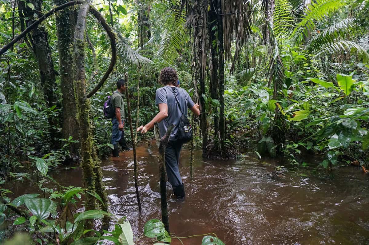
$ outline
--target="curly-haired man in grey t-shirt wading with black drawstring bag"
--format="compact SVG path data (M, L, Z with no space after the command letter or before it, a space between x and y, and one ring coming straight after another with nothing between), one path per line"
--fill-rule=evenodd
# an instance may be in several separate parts
M200 115L199 104L193 103L186 90L177 87L178 75L175 69L166 67L161 70L160 82L163 87L156 90L155 104L159 107L159 113L145 126L137 128L137 132L145 134L159 123L160 136L163 137L170 124L179 125L183 114L187 115L188 108L197 116ZM176 97L179 103L176 101ZM182 109L182 110L181 110ZM179 173L179 156L183 143L176 139L178 128L175 127L169 138L165 151L165 166L169 182L173 192L178 198L184 198L184 186Z

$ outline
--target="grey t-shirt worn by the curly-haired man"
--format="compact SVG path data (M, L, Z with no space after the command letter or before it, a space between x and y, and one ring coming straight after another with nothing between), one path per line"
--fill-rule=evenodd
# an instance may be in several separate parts
M180 118L182 117L182 112L172 91L177 96L177 99L180 103L180 108L182 109L184 115L187 115L188 108L192 108L194 106L190 95L184 89L170 86L164 86L160 89L157 89L155 104L158 105L164 103L168 105L168 117L159 123L159 131L161 137L163 137L166 130L168 130L168 126L170 124L174 124L175 126L177 126L179 124ZM170 135L169 140L175 140L175 135L177 131L178 128L175 127L172 134Z

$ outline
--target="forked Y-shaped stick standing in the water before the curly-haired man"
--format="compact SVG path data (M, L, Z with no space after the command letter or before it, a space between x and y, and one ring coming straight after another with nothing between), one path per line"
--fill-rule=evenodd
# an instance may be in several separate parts
M159 124L154 124L154 134L156 139L156 145L159 148L158 163L160 171L160 201L162 220L165 226L165 230L169 232L169 215L168 215L168 204L166 200L166 178L165 178L165 149L169 142L170 134L172 134L174 124L170 124L165 135L161 138L159 135Z

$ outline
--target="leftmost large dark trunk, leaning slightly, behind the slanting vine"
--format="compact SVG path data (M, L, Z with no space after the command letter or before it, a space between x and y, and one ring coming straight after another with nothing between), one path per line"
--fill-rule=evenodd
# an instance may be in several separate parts
M42 16L42 0L30 0L30 3L34 5L34 10L22 3L23 10L26 11L25 16L27 17L27 26L30 26ZM58 103L58 97L56 96L56 93L54 93L54 89L56 89L55 70L51 56L51 49L48 42L48 33L46 32L45 27L42 25L35 27L31 33L31 42L38 61L46 106L56 106ZM52 115L49 115L48 121L51 127L49 130L51 133L51 141L56 144L55 137L58 137L58 120Z

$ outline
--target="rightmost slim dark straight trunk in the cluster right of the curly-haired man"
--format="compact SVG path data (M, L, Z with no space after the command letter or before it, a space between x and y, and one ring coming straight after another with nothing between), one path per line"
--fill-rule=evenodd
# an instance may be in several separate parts
M223 13L222 1L217 2L218 11L218 50L219 50L219 131L222 154L224 152L225 140L225 118L224 118L224 40L223 40Z

